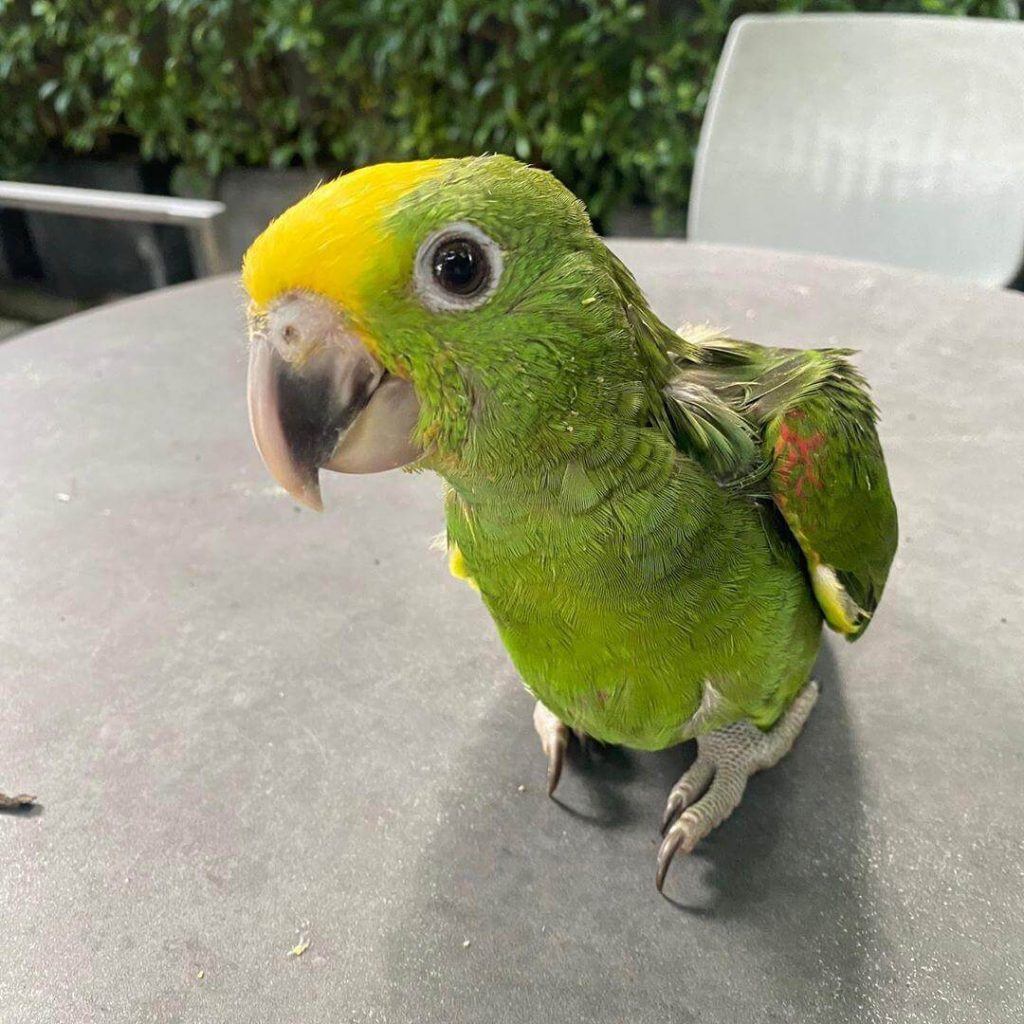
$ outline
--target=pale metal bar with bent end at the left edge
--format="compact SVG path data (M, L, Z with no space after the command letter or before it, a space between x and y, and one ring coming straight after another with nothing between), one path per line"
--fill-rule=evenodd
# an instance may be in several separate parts
M215 200L0 181L0 206L62 213L73 217L95 217L99 220L178 224L195 234L202 261L202 266L198 268L201 276L220 273L226 269L213 226L214 220L224 212L225 207Z

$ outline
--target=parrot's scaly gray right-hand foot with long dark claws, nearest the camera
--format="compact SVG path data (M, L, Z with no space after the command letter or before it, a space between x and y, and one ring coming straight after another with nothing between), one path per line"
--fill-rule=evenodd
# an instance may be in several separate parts
M751 775L790 753L817 698L818 684L811 680L768 732L750 722L733 722L697 737L696 760L672 787L662 819L662 831L669 830L657 851L658 892L672 858L680 851L689 853L739 806Z

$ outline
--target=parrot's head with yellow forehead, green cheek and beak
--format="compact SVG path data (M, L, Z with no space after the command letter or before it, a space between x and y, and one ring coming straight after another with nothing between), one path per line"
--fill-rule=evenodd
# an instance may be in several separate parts
M549 458L595 368L636 374L620 279L583 204L509 157L319 186L245 258L264 460L315 505L319 468Z

